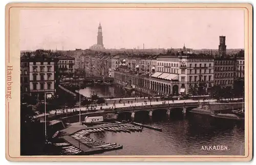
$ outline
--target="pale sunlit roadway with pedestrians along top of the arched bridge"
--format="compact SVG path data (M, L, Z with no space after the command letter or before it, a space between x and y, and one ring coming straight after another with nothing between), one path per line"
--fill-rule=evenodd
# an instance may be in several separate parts
M239 100L239 99L234 99L234 101L236 100ZM147 102L146 105L161 105L163 104L164 101L154 101L154 102ZM215 104L218 104L217 100L216 99L209 99L209 100L174 100L174 101L165 101L165 104L173 104L173 103L196 103L196 102L210 102L210 103L215 103ZM219 103L219 104L223 104L223 103ZM98 112L104 112L104 109L114 109L114 108L123 108L123 107L136 107L136 106L145 106L145 103L144 102L133 102L133 103L121 103L121 104L109 104L109 105L103 105L102 106L102 109L100 109L100 105L97 105L97 107L95 107L95 109L97 110L97 112L95 113L98 113ZM90 107L89 107L90 108ZM65 109L66 111L66 109ZM68 112L71 112L71 111L79 111L79 108L72 108L72 109L68 109ZM87 112L88 109L87 107L81 107L81 113L84 113L84 112ZM90 111L90 109L89 109ZM53 110L51 111L50 113L48 114L59 114L59 113L63 113L63 110L59 109L59 110ZM37 117L40 117L40 116L44 116L45 114L42 113L42 114L39 114L37 115Z

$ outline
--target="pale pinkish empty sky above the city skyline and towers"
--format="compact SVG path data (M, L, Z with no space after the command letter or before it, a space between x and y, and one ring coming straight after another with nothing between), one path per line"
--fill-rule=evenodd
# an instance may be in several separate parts
M22 10L20 50L88 49L99 22L106 49L244 49L243 10Z

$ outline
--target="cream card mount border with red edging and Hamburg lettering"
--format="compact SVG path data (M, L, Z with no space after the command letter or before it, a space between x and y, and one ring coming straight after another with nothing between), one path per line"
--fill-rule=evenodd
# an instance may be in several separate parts
M165 156L20 156L20 50L19 11L30 9L176 9L244 10L245 15L245 156L165 155ZM11 74L11 99L6 98L6 159L9 161L250 161L252 159L252 6L250 4L56 4L10 3L6 5L6 84ZM13 66L13 70L8 67ZM7 95L7 87L6 87Z

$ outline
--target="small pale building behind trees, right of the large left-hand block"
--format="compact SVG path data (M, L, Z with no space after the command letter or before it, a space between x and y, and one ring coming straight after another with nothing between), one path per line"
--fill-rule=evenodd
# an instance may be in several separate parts
M60 74L75 73L75 58L74 57L58 57L58 69Z

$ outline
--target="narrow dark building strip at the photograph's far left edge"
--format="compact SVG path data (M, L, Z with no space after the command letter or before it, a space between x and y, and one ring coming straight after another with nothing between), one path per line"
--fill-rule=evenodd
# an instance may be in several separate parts
M20 60L20 93L23 98L29 96L29 61L27 58Z

